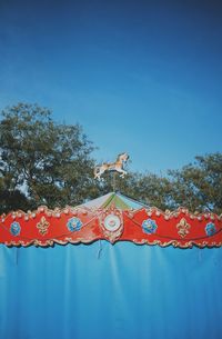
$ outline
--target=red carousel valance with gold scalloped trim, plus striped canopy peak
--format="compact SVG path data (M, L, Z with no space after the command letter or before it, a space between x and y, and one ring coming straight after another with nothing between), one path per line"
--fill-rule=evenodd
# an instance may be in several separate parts
M190 213L180 208L161 211L119 193L109 193L78 207L16 211L0 218L0 242L6 246L90 243L95 240L137 245L222 246L222 216Z

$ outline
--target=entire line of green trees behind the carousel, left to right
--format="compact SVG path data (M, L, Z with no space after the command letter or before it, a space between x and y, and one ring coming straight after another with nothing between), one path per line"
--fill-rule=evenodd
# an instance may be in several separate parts
M2 111L0 121L0 212L75 206L119 190L148 206L222 212L222 153L199 156L181 170L160 177L105 173L93 180L93 144L79 124L52 120L48 109L19 103Z

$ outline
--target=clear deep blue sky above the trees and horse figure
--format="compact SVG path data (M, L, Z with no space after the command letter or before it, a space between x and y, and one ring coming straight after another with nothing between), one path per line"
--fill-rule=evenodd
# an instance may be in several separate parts
M165 172L222 150L220 1L0 0L0 109L82 124L98 161Z

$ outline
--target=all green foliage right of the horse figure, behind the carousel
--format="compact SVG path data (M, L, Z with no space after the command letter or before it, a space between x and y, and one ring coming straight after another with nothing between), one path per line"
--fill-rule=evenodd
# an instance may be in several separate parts
M107 175L101 193L115 186L122 193L162 210L182 206L193 212L222 212L222 153L196 157L194 163L169 170L165 177L130 172L114 181Z

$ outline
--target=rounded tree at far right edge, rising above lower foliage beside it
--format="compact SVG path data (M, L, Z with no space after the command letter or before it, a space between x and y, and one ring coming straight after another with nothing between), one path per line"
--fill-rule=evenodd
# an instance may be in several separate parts
M222 212L222 153L195 157L195 162L171 170L172 199L190 210Z

